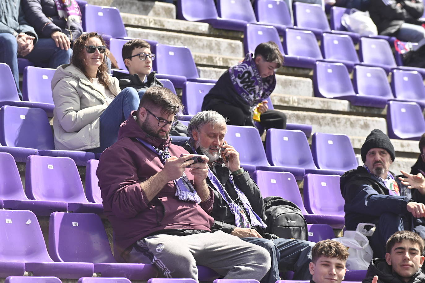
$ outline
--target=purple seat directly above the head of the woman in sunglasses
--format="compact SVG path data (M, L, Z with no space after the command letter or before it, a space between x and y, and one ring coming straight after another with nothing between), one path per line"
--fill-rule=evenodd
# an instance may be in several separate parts
M111 37L127 36L121 15L116 7L87 4L83 24L84 31L96 31L102 34L106 42L109 42Z

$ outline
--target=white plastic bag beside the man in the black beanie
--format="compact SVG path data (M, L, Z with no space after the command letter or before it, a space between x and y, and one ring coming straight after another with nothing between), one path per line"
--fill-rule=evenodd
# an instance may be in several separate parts
M373 257L373 251L369 245L368 238L360 233L366 231L365 225L372 225L369 223L360 223L356 231L345 231L344 236L340 238L333 238L332 240L338 241L348 248L348 259L346 267L350 270L366 270ZM371 231L374 230L373 228ZM373 233L373 232L371 232Z

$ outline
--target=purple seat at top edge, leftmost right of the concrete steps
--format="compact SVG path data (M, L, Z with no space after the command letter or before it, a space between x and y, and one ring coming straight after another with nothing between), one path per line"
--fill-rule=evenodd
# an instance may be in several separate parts
M204 0L199 3L196 0L177 1L177 18L191 22L207 22L213 28L244 31L245 20L224 19L218 17L214 0Z

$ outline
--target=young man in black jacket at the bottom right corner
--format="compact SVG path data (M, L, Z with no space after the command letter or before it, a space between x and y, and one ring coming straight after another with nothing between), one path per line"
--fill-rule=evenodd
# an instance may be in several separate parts
M362 283L423 283L424 240L411 231L398 231L386 243L385 258L374 258Z

